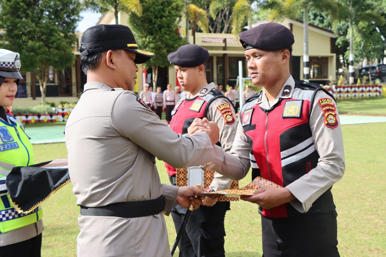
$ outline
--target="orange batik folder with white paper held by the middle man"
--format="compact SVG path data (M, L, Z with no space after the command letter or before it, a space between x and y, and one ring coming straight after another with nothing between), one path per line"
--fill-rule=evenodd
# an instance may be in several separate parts
M204 181L204 188L208 188L210 183L212 182L214 176L213 174L215 171L212 171L210 169L205 169L203 171L203 181ZM183 169L176 169L176 184L177 186L187 186L188 185L188 168ZM233 181L230 185L229 190L237 190L239 189L239 181ZM227 191L227 190L225 190ZM219 191L218 191L219 192ZM229 202L229 201L239 201L238 197L235 196L225 196L225 195L219 195L217 198L217 201L220 202Z

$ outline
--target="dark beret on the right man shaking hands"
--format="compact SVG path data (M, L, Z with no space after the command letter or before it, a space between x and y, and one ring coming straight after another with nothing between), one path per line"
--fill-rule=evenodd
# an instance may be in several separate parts
M243 31L239 39L245 50L279 50L290 47L295 42L291 30L276 22L263 23Z

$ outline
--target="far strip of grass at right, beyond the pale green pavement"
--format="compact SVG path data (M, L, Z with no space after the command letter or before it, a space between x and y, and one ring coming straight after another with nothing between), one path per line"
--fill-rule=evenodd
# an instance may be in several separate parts
M340 100L339 114L386 116L386 97Z

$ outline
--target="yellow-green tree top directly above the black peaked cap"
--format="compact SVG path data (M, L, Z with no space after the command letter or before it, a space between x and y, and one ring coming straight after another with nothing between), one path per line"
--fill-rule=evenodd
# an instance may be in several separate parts
M142 15L142 5L140 0L83 0L83 4L89 10L105 13L111 11L115 16L115 24L118 22L118 13L135 13Z

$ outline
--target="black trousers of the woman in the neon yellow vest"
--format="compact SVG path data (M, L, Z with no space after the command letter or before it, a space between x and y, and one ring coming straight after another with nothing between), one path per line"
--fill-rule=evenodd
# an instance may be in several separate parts
M42 233L28 240L0 247L0 257L40 257Z

